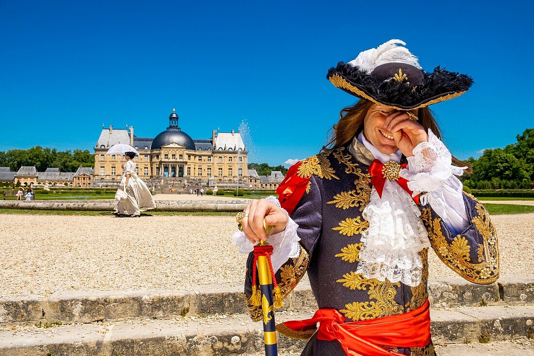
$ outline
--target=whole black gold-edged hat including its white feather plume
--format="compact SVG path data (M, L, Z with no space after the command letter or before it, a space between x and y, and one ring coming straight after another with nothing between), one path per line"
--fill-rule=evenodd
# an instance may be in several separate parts
M440 69L423 71L417 57L389 40L361 52L348 63L339 62L327 79L351 95L397 110L413 110L464 94L473 79L465 74Z

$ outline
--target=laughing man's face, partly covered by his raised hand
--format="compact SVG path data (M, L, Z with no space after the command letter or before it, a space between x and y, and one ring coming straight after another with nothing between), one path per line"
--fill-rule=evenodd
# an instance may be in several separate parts
M391 131L386 129L383 124L387 116L394 112L395 109L373 104L364 118L364 135L367 141L371 142L376 149L382 153L391 154L398 150ZM415 112L417 113L417 112Z

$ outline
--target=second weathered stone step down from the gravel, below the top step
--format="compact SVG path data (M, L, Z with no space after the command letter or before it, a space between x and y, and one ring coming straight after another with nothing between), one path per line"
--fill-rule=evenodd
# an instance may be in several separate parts
M277 322L311 313L276 314ZM531 337L534 306L458 307L431 311L436 344L477 343ZM247 315L127 320L0 331L0 355L211 355L262 351L261 323ZM302 350L304 340L278 336L281 354ZM526 353L525 353L526 354Z

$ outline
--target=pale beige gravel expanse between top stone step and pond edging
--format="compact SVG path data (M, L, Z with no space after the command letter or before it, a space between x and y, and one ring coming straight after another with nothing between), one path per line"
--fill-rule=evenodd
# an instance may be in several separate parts
M534 214L495 215L502 274L534 273ZM241 285L233 216L0 215L0 298ZM430 275L453 272L430 254Z

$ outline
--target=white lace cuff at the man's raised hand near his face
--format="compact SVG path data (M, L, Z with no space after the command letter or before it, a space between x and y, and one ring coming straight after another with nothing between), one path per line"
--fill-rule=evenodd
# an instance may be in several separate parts
M428 129L428 142L415 146L413 154L407 157L407 169L400 171L400 176L409 181L408 188L413 191L413 196L423 191L436 191L453 174L460 176L467 168L452 165L451 152L431 129Z

